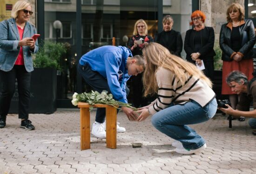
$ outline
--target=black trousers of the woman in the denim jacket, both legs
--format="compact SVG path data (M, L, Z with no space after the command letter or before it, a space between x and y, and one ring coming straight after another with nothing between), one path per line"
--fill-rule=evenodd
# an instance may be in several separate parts
M0 116L7 116L9 112L16 79L19 94L19 118L28 119L31 72L27 72L24 65L14 65L13 69L8 72L0 70Z

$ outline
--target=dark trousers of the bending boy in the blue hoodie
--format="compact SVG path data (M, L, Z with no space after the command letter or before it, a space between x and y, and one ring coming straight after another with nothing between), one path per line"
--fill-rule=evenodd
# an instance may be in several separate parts
M85 82L89 84L93 90L96 90L98 92L102 92L102 90L107 90L108 92L111 92L108 86L108 80L101 76L101 74L97 71L92 71L91 67L89 65L82 66L81 64L78 64L77 69ZM126 86L126 94L129 94L129 88ZM119 110L117 110L118 113ZM106 117L106 109L105 108L97 108L96 111L96 122L104 122Z

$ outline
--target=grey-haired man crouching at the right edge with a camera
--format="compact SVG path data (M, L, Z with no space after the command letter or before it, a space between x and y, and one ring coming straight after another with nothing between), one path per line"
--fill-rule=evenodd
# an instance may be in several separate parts
M239 102L236 106L236 110L231 108L228 104L228 108L219 108L222 112L232 116L244 116L251 117L249 119L249 125L256 129L256 77L248 81L248 78L241 71L232 71L227 79L227 84L237 95L239 95ZM249 110L250 103L253 101L253 109ZM256 131L253 131L256 135Z

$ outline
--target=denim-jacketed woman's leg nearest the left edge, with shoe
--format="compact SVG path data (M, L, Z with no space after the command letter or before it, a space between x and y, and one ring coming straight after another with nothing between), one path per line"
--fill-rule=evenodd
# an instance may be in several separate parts
M6 126L6 116L15 90L15 79L14 69L8 72L0 70L0 128Z

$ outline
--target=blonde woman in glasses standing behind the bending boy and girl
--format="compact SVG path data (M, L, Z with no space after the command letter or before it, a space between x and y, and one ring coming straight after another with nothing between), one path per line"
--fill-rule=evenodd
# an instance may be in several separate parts
M142 55L142 49L148 43L154 42L154 39L148 35L148 25L143 19L135 22L133 36L131 37L128 48L132 51L133 56ZM143 96L142 75L138 74L132 78L133 103L136 108L148 104L147 98Z

